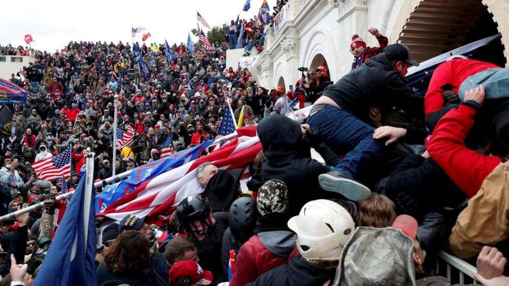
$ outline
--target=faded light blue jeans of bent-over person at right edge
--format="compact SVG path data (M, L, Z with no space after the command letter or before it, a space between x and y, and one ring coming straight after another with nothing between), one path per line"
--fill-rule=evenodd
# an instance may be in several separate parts
M466 91L481 84L485 87L487 99L509 97L509 67L487 69L467 77L458 91L461 100L464 100Z

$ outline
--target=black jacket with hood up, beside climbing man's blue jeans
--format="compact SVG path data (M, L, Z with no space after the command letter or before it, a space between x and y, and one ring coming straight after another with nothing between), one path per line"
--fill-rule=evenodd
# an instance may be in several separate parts
M310 146L302 139L299 123L283 115L273 115L260 121L257 132L265 156L261 182L278 179L286 184L288 215L298 215L304 204L313 199L337 196L320 188L318 175L327 173L330 170L327 165L336 165L339 158L326 147L324 152L320 148L316 150L327 165L311 159Z

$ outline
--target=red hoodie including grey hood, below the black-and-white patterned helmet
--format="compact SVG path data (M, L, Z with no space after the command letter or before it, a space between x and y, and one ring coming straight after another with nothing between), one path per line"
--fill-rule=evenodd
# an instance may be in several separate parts
M259 275L284 265L295 248L296 239L297 235L290 231L270 231L252 236L238 251L230 286L246 285Z

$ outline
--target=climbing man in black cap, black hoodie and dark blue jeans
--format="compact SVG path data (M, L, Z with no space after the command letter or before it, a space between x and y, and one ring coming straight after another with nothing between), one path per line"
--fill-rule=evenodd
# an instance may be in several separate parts
M354 179L359 171L366 170L371 159L383 154L385 147L385 140L374 139L374 128L366 123L370 122L369 109L378 106L384 112L397 107L410 116L420 117L423 98L407 88L403 80L408 68L418 65L411 60L408 47L389 45L381 54L329 85L316 100L307 123L320 130L329 146L351 150L333 170L318 177L323 189L354 201L369 196L370 190Z

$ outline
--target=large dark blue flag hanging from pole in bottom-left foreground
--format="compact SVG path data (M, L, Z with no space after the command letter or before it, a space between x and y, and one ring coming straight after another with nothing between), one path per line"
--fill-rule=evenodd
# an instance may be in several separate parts
M85 180L74 191L34 286L97 286L95 192L85 190Z

